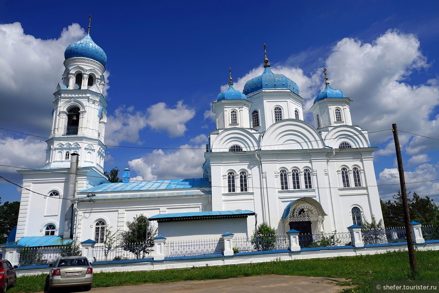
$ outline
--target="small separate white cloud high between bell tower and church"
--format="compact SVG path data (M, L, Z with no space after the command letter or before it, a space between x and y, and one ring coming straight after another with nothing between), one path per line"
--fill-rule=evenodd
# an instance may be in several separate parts
M186 132L186 122L194 118L195 110L177 102L175 108L169 108L166 103L160 102L147 109L147 125L155 131L167 131L170 137L183 136Z

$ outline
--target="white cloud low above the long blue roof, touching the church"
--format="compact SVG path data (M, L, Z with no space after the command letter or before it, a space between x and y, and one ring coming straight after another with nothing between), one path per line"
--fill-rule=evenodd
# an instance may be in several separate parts
M202 142L204 139L202 136L197 136L194 141ZM157 149L141 158L129 161L128 164L143 180L202 177L204 146L186 144L180 148L172 152Z

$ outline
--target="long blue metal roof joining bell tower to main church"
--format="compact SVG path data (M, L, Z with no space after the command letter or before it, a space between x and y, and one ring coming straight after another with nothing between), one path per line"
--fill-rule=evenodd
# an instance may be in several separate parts
M113 191L142 191L142 190L170 190L190 188L211 188L206 178L154 180L129 183L105 183L81 190L80 192L113 192Z

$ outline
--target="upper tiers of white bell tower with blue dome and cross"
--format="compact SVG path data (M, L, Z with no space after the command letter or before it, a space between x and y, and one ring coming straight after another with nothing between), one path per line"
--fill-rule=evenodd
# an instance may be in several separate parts
M103 172L108 105L102 94L106 54L91 39L90 22L87 35L70 44L64 56L62 83L53 94L45 167L68 168L70 155L78 153L78 167L96 167Z

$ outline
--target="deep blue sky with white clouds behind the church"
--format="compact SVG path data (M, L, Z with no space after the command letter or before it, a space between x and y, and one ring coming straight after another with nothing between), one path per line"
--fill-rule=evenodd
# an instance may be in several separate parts
M53 92L64 50L90 35L107 55L104 169L133 180L202 177L215 129L211 103L263 71L295 81L309 108L324 87L353 100L354 125L370 132L381 199L400 189L392 124L407 190L439 204L439 3L435 1L0 0L0 175L44 166ZM131 147L131 148L126 148ZM182 149L186 148L186 150ZM20 188L0 179L2 202Z

